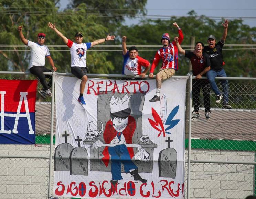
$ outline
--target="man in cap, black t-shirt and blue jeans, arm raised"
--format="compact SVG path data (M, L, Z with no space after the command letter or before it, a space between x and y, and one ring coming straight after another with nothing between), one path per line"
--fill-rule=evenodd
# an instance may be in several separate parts
M232 107L228 104L228 80L221 80L223 95L215 82L215 77L227 77L223 68L225 62L223 61L222 47L227 37L228 20L226 19L225 23L222 25L224 27L224 31L221 40L216 43L216 38L213 35L208 36L208 46L204 48L203 52L206 52L210 57L211 70L207 72L207 78L216 94L216 103L220 103L223 97L223 108L231 109Z

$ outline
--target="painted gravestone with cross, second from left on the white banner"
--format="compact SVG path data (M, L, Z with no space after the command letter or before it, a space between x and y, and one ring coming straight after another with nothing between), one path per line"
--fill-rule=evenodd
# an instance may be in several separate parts
M87 150L84 147L80 147L80 141L82 139L77 136L75 139L78 143L78 147L75 147L70 153L70 175L88 175L88 159Z

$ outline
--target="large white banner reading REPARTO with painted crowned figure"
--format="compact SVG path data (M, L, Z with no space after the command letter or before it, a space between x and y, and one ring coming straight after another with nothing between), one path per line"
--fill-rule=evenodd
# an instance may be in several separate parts
M184 198L186 78L88 79L55 75L55 196Z

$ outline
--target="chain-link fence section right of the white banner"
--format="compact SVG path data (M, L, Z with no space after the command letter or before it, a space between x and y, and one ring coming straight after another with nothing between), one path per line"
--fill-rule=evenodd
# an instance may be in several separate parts
M219 101L207 79L193 79L190 198L245 198L256 193L256 81L228 78L228 95L223 81L215 81L223 96Z

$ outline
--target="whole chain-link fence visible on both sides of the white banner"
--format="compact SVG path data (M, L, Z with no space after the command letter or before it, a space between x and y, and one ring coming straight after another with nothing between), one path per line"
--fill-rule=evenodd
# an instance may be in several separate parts
M123 75L88 76L130 79ZM0 74L0 79L25 80L34 79L34 76L29 73L9 72ZM228 104L232 109L223 108L224 98L220 103L215 102L216 95L205 81L193 80L192 83L193 93L197 92L198 95L197 104L193 101L192 106L194 110L198 106L199 117L186 120L191 122L191 128L186 131L186 135L191 133L185 140L185 194L188 194L187 198L245 198L254 195L256 79L228 78ZM216 83L222 91L220 81L216 80ZM207 89L203 89L202 85ZM40 89L42 85L39 82L38 90ZM190 93L188 90L187 94ZM206 98L207 94L209 95L207 106L204 104L206 100L203 93ZM193 95L193 100L195 97ZM189 101L186 102L186 107L191 110ZM206 119L205 107L209 112L209 119ZM55 127L55 113L53 116ZM191 115L193 116L194 114ZM50 151L53 152L50 144L51 98L43 99L41 95L37 95L35 118L36 145L0 147L0 198L47 198L53 193L53 160L50 156Z

